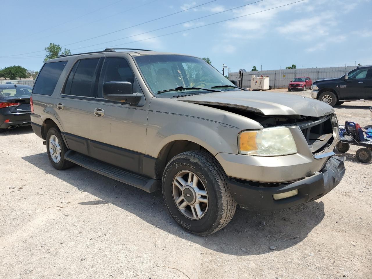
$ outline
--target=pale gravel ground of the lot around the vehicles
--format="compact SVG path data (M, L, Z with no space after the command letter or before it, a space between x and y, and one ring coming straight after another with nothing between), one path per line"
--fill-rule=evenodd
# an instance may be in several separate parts
M372 124L372 102L345 104L340 123ZM199 237L176 225L161 192L82 167L57 171L31 128L4 132L0 278L372 278L372 164L356 161L356 150L323 198L238 209L225 229Z

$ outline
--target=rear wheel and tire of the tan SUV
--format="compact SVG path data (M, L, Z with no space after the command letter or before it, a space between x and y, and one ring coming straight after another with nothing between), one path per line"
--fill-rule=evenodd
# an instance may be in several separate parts
M49 145L51 145L51 142L54 142L54 146L51 146L51 149L49 149ZM59 152L57 152L59 151ZM57 170L65 170L69 169L70 167L74 166L74 163L65 160L64 155L68 151L65 142L63 141L61 137L61 132L57 128L50 128L47 133L47 154L50 163L52 166ZM52 158L52 154L59 154L59 160L58 156L55 156L55 158Z

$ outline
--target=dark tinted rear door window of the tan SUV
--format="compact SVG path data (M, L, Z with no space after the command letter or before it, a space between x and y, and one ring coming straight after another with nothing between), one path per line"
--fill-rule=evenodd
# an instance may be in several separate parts
M67 79L64 94L83 96L83 97L97 97L93 92L96 68L99 58L82 59L74 69L71 71ZM74 68L75 68L74 66ZM73 75L71 77L71 75ZM71 86L69 82L72 80ZM69 90L69 92L67 92Z

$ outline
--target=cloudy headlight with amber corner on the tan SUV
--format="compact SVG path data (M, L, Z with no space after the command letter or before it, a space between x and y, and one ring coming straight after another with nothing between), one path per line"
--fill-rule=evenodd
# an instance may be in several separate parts
M288 128L279 126L239 134L239 153L256 156L280 156L297 153Z

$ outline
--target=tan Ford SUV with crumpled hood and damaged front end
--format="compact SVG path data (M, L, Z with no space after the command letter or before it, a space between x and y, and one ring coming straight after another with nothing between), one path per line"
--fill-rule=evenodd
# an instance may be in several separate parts
M235 208L314 201L342 179L331 106L236 87L202 59L138 49L45 62L32 128L55 169L78 164L146 192L171 217L212 234Z

